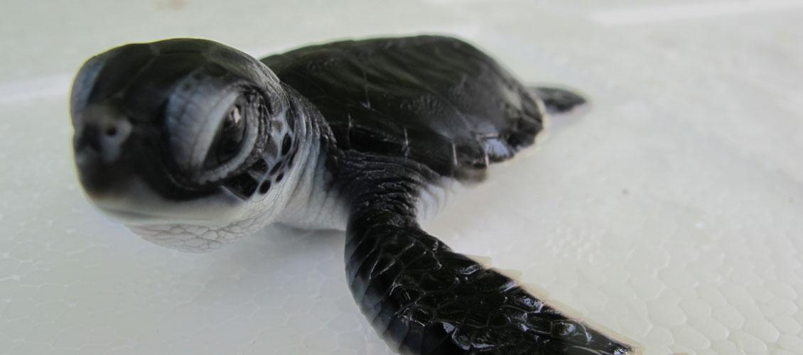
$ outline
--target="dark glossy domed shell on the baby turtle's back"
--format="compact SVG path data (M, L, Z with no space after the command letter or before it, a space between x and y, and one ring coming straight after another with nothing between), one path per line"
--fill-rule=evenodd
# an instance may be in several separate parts
M483 178L542 129L528 88L459 39L343 41L261 60L320 110L340 149L406 157L442 176Z

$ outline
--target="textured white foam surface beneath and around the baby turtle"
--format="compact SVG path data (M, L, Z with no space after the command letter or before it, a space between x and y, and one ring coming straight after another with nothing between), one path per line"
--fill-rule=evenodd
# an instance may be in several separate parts
M423 31L594 101L456 198L434 235L647 354L803 353L801 17L781 0L6 4L0 353L388 353L346 288L343 235L269 229L185 255L92 210L66 92L89 55L132 41L263 55Z

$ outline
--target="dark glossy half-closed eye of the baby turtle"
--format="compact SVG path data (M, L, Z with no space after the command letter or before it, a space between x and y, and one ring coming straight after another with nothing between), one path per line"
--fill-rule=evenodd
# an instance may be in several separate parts
M243 116L243 109L238 104L234 105L223 117L218 133L210 146L209 153L206 153L204 165L207 168L214 168L229 161L243 148L243 141L246 136L246 118Z

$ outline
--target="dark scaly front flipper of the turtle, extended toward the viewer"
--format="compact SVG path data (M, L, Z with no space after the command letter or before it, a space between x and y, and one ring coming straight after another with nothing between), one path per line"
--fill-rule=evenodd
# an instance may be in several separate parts
M347 153L352 197L346 275L377 333L401 353L625 354L633 348L573 320L427 234L415 198L437 179L402 159Z

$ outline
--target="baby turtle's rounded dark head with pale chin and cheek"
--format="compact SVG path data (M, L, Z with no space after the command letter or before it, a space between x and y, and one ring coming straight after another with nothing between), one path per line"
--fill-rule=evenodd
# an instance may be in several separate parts
M250 55L202 39L116 47L84 63L70 104L88 198L145 239L210 249L287 201L296 117Z

